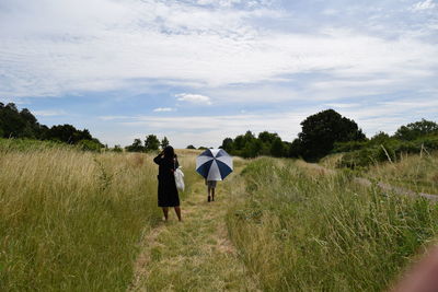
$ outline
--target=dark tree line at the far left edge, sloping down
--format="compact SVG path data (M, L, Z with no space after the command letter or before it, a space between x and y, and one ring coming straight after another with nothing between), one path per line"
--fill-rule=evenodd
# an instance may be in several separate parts
M7 105L0 103L0 138L51 140L78 144L85 150L97 150L103 147L88 129L78 130L68 124L47 127L39 124L27 108L19 110L13 103Z

